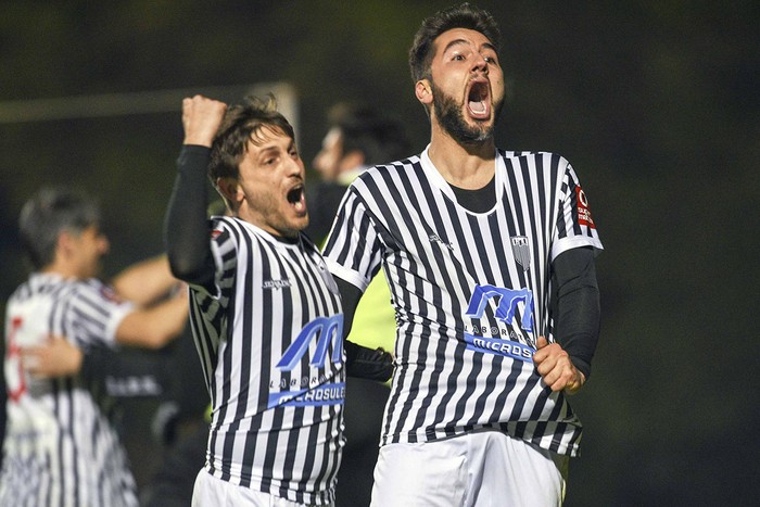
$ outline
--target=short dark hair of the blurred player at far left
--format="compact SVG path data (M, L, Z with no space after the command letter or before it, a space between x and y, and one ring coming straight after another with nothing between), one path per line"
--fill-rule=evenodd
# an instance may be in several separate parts
M100 206L93 198L67 187L46 187L22 207L18 233L22 248L37 270L54 261L61 232L79 235L99 224Z

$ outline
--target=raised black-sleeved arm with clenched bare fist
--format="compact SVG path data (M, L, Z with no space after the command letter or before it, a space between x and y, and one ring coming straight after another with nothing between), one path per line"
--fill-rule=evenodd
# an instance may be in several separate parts
M203 97L182 101L185 141L164 219L172 272L180 280L206 288L213 287L215 270L206 219L206 169L226 107L221 102Z

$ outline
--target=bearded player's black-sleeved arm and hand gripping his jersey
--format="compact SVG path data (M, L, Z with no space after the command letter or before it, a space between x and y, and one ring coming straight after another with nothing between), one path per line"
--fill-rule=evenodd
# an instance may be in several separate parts
M553 391L572 394L591 375L591 362L599 337L599 289L594 251L563 252L552 263L556 287L556 343L540 337L533 355L539 373Z

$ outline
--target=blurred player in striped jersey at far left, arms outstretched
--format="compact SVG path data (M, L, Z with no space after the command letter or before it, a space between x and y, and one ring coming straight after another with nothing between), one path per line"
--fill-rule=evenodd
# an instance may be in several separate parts
M138 503L111 420L113 400L86 376L65 375L79 369L81 355L59 365L56 378L30 375L46 367L45 356L31 351L48 340L54 344L66 337L85 351L157 348L187 322L185 291L167 296L177 280L165 257L132 266L113 286L96 278L109 249L99 226L96 202L68 189L42 189L22 210L21 239L34 272L7 305L8 423L0 505Z

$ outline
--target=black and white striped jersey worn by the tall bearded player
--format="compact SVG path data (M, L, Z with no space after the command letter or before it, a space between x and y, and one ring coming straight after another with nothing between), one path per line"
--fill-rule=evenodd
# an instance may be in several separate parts
M539 335L554 339L549 263L601 243L565 159L498 151L495 188L491 211L465 210L426 150L368 169L343 199L328 267L362 290L382 267L396 308L381 444L498 428L578 452L581 423L532 354Z

